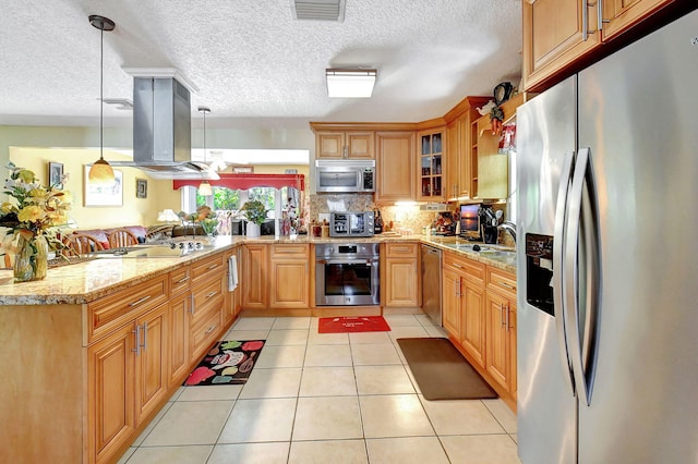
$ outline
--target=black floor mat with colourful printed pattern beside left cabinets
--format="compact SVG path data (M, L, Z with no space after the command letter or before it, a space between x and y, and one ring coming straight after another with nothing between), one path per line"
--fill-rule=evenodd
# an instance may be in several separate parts
M219 341L184 381L185 387L242 384L260 357L265 340Z

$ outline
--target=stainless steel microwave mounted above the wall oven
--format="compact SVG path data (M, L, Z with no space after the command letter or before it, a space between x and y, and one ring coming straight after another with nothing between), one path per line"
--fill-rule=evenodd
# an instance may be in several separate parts
M375 160L315 160L315 191L375 192Z

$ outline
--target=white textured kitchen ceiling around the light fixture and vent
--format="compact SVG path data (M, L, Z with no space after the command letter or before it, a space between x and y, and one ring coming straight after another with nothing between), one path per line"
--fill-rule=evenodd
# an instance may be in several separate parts
M0 124L98 125L105 98L132 99L128 68L174 68L212 127L422 121L467 95L518 84L520 0L346 0L344 22L298 21L289 0L0 0ZM378 71L370 99L329 99L324 70ZM106 125L131 112L105 106Z

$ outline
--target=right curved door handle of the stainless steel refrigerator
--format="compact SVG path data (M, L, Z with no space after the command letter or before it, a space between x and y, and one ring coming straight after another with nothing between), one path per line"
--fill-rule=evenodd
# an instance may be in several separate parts
M565 326L568 329L567 338L577 394L582 404L589 405L593 376L592 367L588 366L587 361L593 357L591 349L595 339L598 282L600 282L595 185L589 148L580 148L577 154L569 197L564 264ZM582 234L581 237L580 234ZM581 269L579 267L580 245L583 247L583 267ZM579 291L580 279L583 280L581 292ZM580 320L582 305L583 326ZM580 327L582 327L581 330Z

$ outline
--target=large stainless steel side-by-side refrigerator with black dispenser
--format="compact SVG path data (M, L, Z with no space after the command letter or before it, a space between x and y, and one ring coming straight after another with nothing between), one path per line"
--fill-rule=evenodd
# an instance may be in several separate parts
M698 463L698 12L517 111L518 452Z

